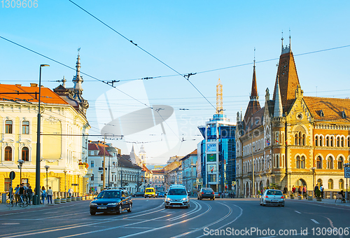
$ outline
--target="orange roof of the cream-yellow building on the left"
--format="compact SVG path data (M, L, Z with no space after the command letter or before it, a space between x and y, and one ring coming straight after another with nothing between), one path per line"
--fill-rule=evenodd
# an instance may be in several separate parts
M6 101L25 101L31 103L38 103L38 92L39 87L36 83L31 84L31 87L22 86L20 84L9 85L0 84L0 94L1 92L30 92L30 94L1 94L0 100ZM37 92L37 96L35 95ZM69 105L64 99L59 97L55 92L50 90L48 87L41 87L41 104L64 104Z

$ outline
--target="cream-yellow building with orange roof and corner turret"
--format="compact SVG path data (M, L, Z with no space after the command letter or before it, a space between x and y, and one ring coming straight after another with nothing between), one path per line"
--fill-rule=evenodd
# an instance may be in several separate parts
M59 85L55 93L41 87L41 186L46 188L48 183L55 197L62 197L69 188L81 195L87 188L87 167L78 165L87 161L90 129L85 116L88 104L81 97L83 79L79 56L76 67L73 88ZM33 190L36 186L38 89L35 83L30 87L0 84L0 193L8 191L11 171L15 172L13 187L20 184L20 177L22 183L26 186L29 183ZM20 94L7 94L9 92ZM24 161L21 174L18 160ZM47 173L45 166L48 166Z

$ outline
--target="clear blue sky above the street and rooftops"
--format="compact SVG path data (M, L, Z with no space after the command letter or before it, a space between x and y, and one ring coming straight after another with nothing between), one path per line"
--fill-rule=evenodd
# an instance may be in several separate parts
M349 97L349 1L87 1L74 0L82 8L137 43L152 55L180 73L195 73L279 58L281 31L284 43L291 32L292 50L304 94L318 97ZM0 36L59 62L75 67L77 48L80 50L81 71L101 80L120 80L115 85L133 82L131 79L174 75L167 68L116 32L102 25L68 0L38 0L37 8L6 8L0 3ZM260 104L264 104L266 87L272 90L278 59L256 64ZM0 39L0 83L29 85L38 81L40 64L43 85L65 76L72 87L74 71L8 41ZM235 122L237 111L245 111L251 90L253 65L197 73L191 82L215 106L216 83L223 84L225 113ZM83 96L90 102L88 120L90 134L97 134L102 116L97 116L97 99L111 87L83 76ZM139 80L142 83L141 80ZM139 84L141 85L141 84ZM176 143L166 153L148 146L165 140L164 134L140 132L131 141L112 141L130 153L129 142L136 151L145 143L148 162L163 164L172 155L186 155L195 150L202 139L198 125L203 125L215 113L214 108L181 76L153 78L143 81L146 100L150 105L164 104L174 108L176 119L165 123L172 127ZM135 90L130 90L130 93ZM116 91L116 94L119 92ZM118 97L111 106L120 113L139 109L139 102ZM189 109L181 111L179 109ZM134 123L142 123L141 118ZM176 128L176 127L174 127ZM168 134L168 135L169 135ZM157 139L155 139L157 137ZM169 139L169 138L168 138ZM184 141L182 141L184 139ZM94 140L94 139L92 139ZM170 139L169 139L170 140ZM182 141L182 142L181 142ZM147 149L152 148L152 149Z

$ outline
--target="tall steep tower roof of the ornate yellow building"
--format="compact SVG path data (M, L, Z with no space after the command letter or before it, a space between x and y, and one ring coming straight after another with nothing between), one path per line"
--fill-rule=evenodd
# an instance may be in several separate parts
M274 96L276 99L277 78L279 78L279 90L281 92L281 101L283 113L286 113L295 99L295 90L299 85L297 77L297 68L295 66L293 52L288 50L279 57L279 68L277 70L276 81L274 83Z

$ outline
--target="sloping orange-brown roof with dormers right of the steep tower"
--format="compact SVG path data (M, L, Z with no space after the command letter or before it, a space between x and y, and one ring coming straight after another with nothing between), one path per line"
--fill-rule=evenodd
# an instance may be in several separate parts
M303 97L314 120L350 123L350 99ZM323 116L321 116L321 110ZM345 113L345 117L342 115Z

